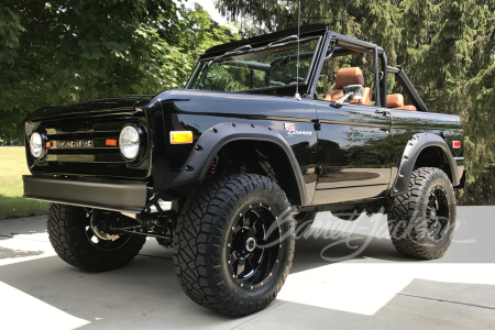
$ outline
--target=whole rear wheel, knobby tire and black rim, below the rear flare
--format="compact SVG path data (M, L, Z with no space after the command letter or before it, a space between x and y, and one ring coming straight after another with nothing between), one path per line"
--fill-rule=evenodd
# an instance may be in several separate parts
M441 257L455 229L455 195L447 174L432 167L413 172L409 191L392 200L388 229L402 254L422 260Z

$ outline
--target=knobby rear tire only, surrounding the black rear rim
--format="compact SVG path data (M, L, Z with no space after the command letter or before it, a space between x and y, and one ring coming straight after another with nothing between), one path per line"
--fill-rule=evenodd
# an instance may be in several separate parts
M444 234L435 240L428 233L428 196L436 187L446 193L449 227ZM402 254L420 260L443 256L449 249L455 229L455 195L449 176L439 168L421 167L413 172L406 194L391 199L388 229L392 242Z

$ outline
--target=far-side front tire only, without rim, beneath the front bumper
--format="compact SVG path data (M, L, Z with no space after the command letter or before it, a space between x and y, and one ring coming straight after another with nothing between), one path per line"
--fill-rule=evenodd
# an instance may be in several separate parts
M86 235L88 212L76 206L52 204L46 221L50 242L58 256L75 267L105 272L128 264L143 248L146 237L131 234L117 250L103 251L91 244Z

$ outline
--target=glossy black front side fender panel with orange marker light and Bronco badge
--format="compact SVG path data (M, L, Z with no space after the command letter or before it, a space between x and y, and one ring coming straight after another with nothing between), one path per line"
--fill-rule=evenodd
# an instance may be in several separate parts
M175 177L183 170L194 144L205 132L221 123L252 123L271 128L273 132L284 136L292 147L299 175L308 172L308 167L315 166L314 158L317 134L312 120L317 118L312 101L297 101L292 97L253 96L229 92L213 92L201 90L167 90L156 97L164 101L162 111L164 114L164 148L155 153L164 155L164 164L169 174L162 180L154 180L155 190L167 190ZM289 135L285 130L285 123L294 123L297 131L307 132L308 135ZM194 144L172 145L169 131L193 131ZM167 156L173 155L173 156ZM162 167L163 168L163 167ZM153 166L152 174L162 168ZM312 167L314 168L314 167ZM311 170L310 170L311 172ZM312 169L314 172L314 169ZM305 185L308 187L308 200L312 199L316 177L304 175ZM168 195L176 195L174 189Z

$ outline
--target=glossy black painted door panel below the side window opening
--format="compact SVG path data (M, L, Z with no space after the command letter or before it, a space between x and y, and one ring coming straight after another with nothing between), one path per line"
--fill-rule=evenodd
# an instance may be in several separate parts
M317 205L384 197L391 182L391 119L381 108L317 101ZM383 109L382 109L383 110Z

